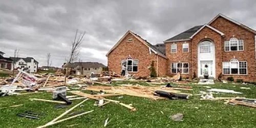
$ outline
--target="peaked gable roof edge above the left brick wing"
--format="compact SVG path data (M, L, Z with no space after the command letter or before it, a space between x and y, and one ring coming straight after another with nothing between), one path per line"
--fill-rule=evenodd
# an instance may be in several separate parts
M140 35L132 32L132 31L127 31L122 38L117 42L116 45L114 45L114 47L106 54L106 56L108 56L115 48L117 48L117 46L122 42L122 40L128 35L128 34L132 34L133 36L135 36L138 40L140 40L144 45L146 45L150 50L152 50L155 54L160 55L164 58L166 58L165 53L162 53L161 50L159 50L157 47L155 47L154 45L150 44L150 42L148 42L147 40L143 39Z

